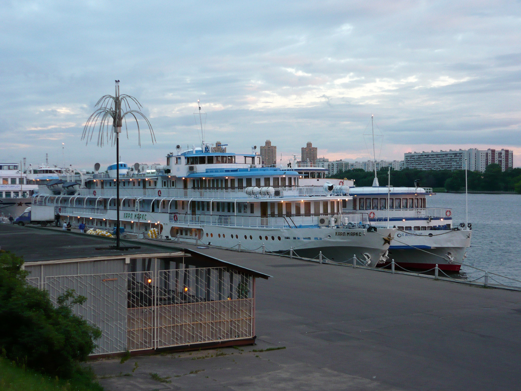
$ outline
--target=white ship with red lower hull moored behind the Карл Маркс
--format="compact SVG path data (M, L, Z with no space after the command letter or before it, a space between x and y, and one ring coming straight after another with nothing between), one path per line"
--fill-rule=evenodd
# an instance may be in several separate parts
M295 171L306 185L324 186L328 181L353 184L352 180L326 178L326 168L296 167ZM428 198L435 195L431 188L363 186L351 187L350 194L352 199L342 201L344 213L362 214L373 224L398 229L387 264L394 259L407 269L428 270L438 264L440 270L460 270L470 246L472 225L454 224L450 208L427 207Z

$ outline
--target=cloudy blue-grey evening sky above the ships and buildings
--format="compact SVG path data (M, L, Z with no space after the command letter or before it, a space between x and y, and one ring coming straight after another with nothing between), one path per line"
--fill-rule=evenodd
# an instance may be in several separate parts
M330 160L506 148L521 166L519 1L148 2L4 0L0 160L92 170L115 147L82 140L103 95L134 96L121 160L177 144L282 161L306 142ZM137 106L132 106L138 109ZM99 125L99 123L98 123Z

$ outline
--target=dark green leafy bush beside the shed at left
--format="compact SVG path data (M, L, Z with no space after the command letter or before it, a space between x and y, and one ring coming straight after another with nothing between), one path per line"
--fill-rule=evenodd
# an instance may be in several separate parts
M79 361L94 350L97 327L72 313L86 300L67 291L54 307L48 292L28 286L23 260L0 253L0 348L4 355L28 368L70 377Z

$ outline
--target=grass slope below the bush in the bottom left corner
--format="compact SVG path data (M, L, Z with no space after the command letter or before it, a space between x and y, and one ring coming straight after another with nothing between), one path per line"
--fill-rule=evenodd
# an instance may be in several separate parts
M69 380L49 377L33 370L24 370L0 357L0 390L2 391L103 391L94 381L92 370L78 370Z

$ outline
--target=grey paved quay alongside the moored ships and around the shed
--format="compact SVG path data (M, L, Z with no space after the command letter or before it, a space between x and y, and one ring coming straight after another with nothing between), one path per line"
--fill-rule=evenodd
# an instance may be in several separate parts
M49 228L1 230L0 246L17 252L35 230ZM69 248L75 256L100 240L52 237L46 245L53 252ZM131 357L123 364L92 361L106 390L513 390L521 384L519 291L160 245L157 250L190 248L273 276L256 283L256 346ZM266 350L273 348L279 349Z

